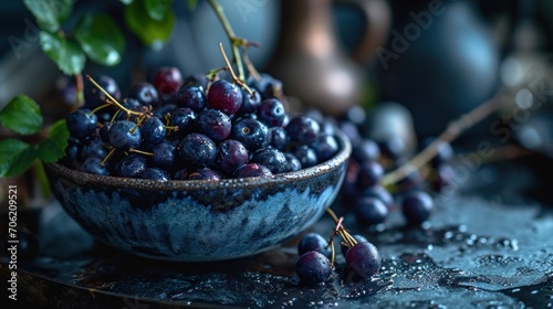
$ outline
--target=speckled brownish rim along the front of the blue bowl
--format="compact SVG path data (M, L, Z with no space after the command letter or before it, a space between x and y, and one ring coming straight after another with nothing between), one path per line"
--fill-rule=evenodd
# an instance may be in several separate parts
M239 188L255 188L268 187L282 183L291 183L300 180L312 179L324 174L331 170L337 169L342 163L345 163L352 153L352 143L349 139L337 128L334 136L336 137L340 147L338 152L331 159L316 166L302 169L294 172L285 172L273 174L271 177L254 177L240 179L222 179L218 181L210 180L168 180L158 181L139 178L122 178L114 175L98 175L86 173L79 170L70 169L58 162L44 163L46 173L51 173L56 178L69 180L76 184L97 184L118 189L143 189L143 190L220 190L220 189L239 189Z

